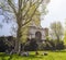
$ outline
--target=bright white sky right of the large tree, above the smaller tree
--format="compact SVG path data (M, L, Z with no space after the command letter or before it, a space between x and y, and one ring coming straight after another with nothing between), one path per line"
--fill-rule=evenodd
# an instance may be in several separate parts
M66 19L66 0L51 0L47 5L48 13L41 22L42 27L50 27L53 22L62 22L65 26Z

